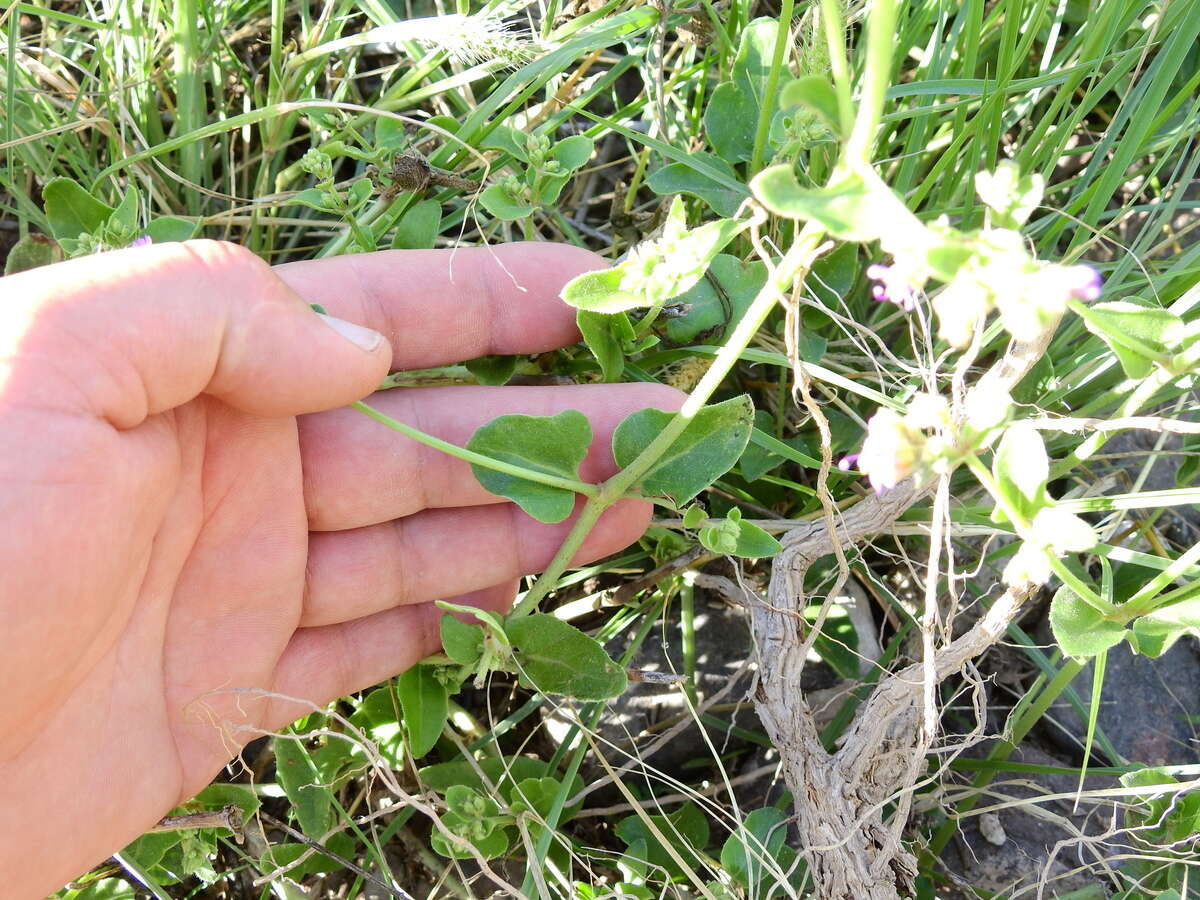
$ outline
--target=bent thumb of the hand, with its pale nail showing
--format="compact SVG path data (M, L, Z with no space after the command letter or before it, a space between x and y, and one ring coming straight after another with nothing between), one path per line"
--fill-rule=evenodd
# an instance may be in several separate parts
M5 391L78 401L120 428L202 394L258 415L330 409L391 364L383 335L313 312L234 244L102 253L10 276L0 293L16 301L0 310Z

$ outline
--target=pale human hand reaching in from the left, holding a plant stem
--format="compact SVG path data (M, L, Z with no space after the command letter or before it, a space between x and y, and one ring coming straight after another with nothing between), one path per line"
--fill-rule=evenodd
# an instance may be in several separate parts
M434 600L509 606L570 521L536 523L466 463L342 407L390 370L577 341L558 292L602 266L530 244L271 269L191 241L0 280L6 898L55 890L248 740L434 653ZM355 343L308 304L373 331ZM680 400L624 384L370 402L457 444L503 413L580 409L582 476L600 481L616 425ZM649 516L617 504L576 562Z

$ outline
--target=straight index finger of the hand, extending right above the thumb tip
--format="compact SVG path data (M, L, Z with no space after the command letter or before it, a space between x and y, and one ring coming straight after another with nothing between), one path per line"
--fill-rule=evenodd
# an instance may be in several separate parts
M383 332L395 368L425 368L575 343L575 310L558 293L606 264L566 244L526 242L388 250L287 263L275 272L308 302Z

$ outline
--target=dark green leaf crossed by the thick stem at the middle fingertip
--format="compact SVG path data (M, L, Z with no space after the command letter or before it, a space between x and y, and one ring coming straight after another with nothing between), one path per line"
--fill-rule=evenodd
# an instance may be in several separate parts
M617 464L629 466L674 418L661 409L628 416L612 436ZM738 461L754 425L754 403L742 395L701 409L641 481L642 493L685 504Z

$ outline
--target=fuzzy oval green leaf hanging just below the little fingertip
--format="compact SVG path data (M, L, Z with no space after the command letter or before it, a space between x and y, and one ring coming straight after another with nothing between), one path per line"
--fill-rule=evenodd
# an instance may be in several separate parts
M521 680L544 694L607 700L625 690L625 670L578 629L546 613L505 623Z

